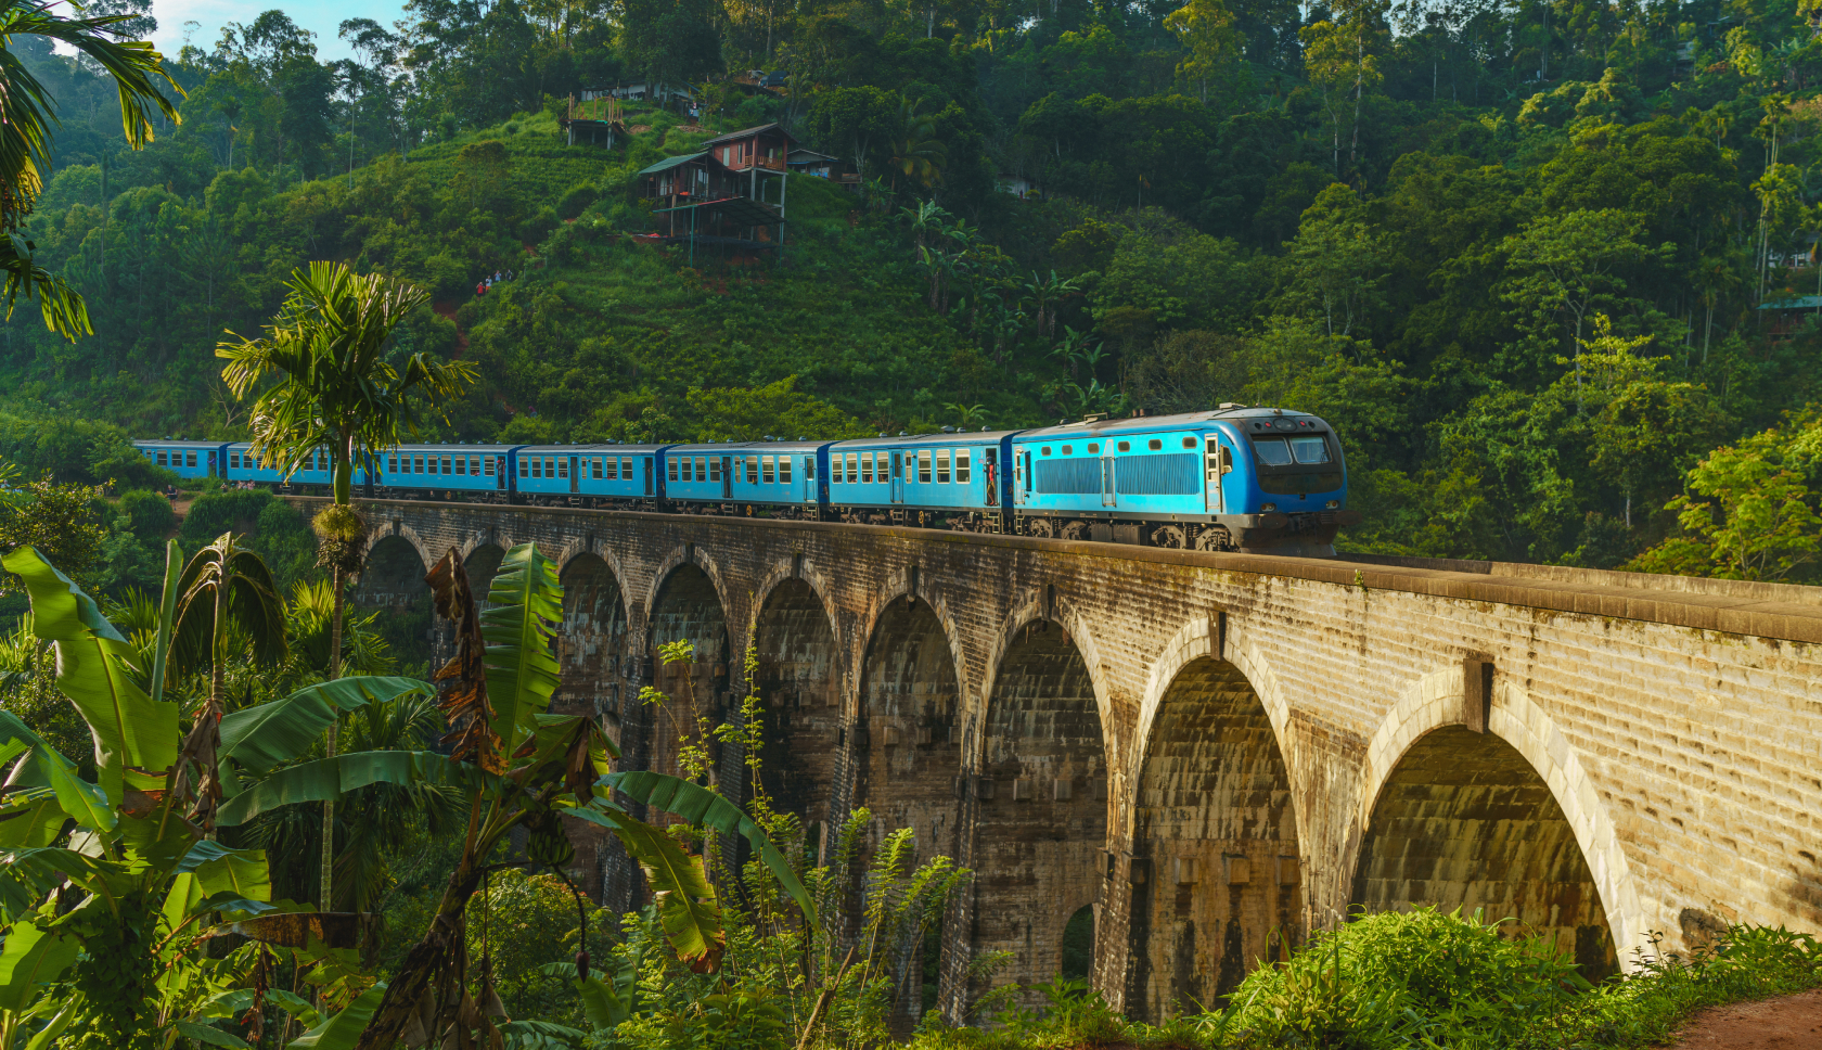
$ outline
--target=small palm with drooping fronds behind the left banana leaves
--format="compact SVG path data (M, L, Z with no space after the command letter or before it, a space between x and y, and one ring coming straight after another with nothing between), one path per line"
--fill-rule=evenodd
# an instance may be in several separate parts
M224 676L237 640L250 643L257 664L284 660L284 602L271 583L271 571L259 554L239 545L233 532L197 551L177 582L177 618L171 623L171 671L210 669L210 695L195 715L189 738L179 757L177 791L195 798L193 817L213 828L220 782L215 780L215 751L220 746L220 720L228 711ZM200 778L191 762L200 769ZM328 910L324 906L324 910Z

